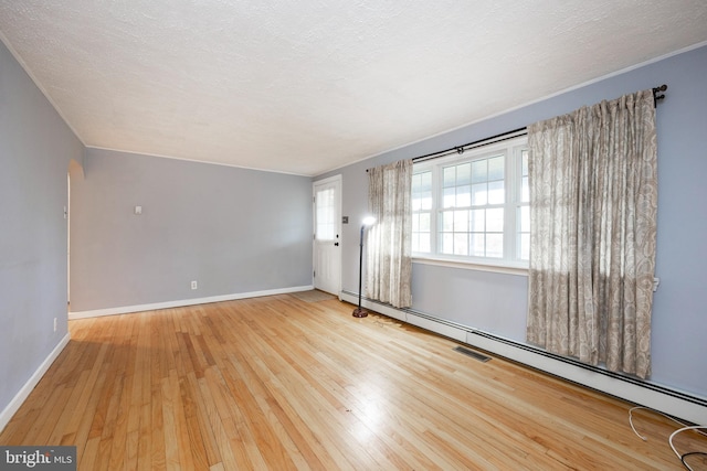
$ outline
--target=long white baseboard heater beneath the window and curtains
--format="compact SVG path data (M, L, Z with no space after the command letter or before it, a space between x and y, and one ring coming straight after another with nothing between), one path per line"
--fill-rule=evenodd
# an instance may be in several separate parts
M352 304L358 303L356 293L342 291L340 299ZM469 327L434 318L433 315L395 309L368 299L361 300L361 306L631 403L659 410L693 424L707 424L707 398L697 397L652 382L643 382L637 378L613 374L602 368L582 365L572 360L561 360L557 355L544 353L541 350L530 345L498 338Z

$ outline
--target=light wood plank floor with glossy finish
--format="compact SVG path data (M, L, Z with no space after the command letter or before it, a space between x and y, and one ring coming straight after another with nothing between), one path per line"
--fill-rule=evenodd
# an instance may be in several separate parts
M71 321L0 443L75 445L81 470L683 469L657 414L635 413L643 441L626 403L351 310L282 295Z

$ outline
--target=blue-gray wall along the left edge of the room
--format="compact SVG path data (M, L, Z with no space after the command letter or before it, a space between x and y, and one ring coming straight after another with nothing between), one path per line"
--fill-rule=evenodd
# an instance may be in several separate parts
M66 173L82 156L0 43L0 411L67 333Z

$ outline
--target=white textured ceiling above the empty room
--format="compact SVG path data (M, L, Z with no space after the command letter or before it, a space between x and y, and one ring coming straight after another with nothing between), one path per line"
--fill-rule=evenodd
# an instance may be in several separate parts
M707 40L705 0L0 0L89 147L316 175Z

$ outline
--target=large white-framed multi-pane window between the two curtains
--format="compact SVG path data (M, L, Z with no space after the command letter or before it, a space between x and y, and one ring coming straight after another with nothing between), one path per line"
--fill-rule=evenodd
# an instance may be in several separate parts
M415 163L413 255L527 266L528 190L525 136Z

